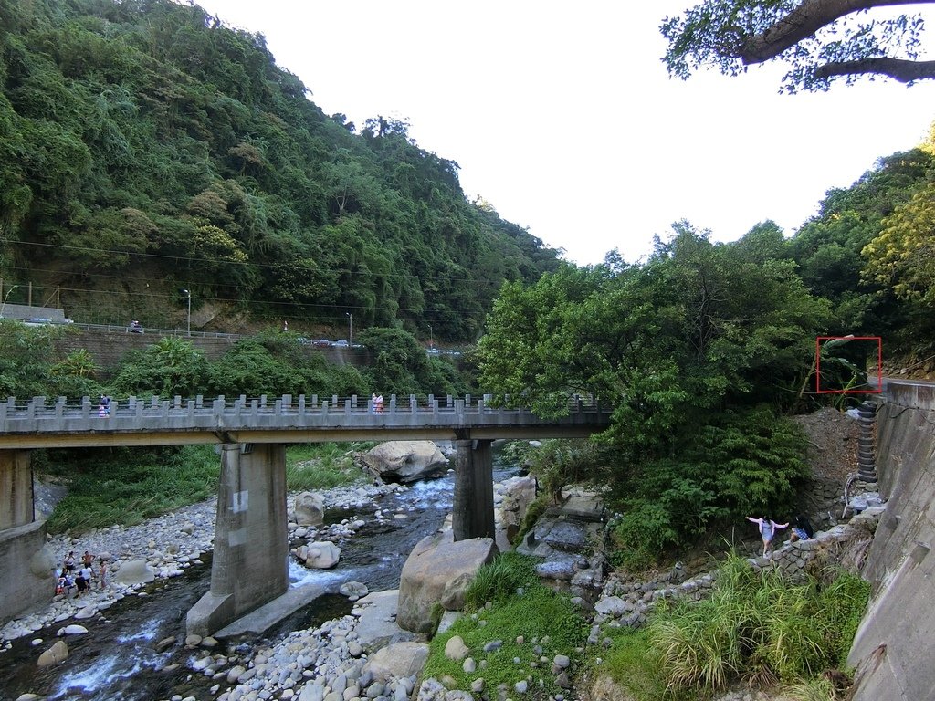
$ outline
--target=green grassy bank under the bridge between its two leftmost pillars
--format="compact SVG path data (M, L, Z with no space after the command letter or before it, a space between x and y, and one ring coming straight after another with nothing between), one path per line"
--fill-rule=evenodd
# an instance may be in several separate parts
M134 525L218 492L221 461L211 446L70 451L67 469L50 456L48 471L65 477L68 494L52 510L50 533L80 534L116 523Z

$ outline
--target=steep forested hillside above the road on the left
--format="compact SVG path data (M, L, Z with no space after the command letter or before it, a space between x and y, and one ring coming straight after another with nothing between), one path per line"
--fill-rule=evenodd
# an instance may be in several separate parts
M339 70L336 64L335 70ZM407 124L328 117L262 36L169 0L0 0L0 277L81 321L471 339L557 264ZM200 320L200 321L199 321Z

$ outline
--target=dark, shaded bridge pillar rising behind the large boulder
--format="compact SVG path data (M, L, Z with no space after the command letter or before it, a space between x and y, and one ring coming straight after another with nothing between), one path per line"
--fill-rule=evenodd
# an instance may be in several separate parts
M494 538L494 454L492 440L455 441L454 514L455 540Z

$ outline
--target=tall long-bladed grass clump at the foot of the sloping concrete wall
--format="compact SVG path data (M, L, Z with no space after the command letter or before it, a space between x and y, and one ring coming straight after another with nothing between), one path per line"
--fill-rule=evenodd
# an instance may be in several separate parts
M843 667L869 596L855 575L792 584L731 556L709 598L657 608L638 632L608 630L601 671L635 701L709 698L741 679L804 688Z

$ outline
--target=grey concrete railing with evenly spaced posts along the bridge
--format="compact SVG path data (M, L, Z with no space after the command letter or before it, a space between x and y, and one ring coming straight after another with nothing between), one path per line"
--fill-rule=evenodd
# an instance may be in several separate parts
M360 423L369 425L381 422L432 422L433 417L467 420L468 417L483 417L483 422L496 422L515 417L535 420L528 408L493 408L488 405L489 395L482 397L454 397L446 395L419 397L415 394L397 396L391 394L381 407L374 406L371 398L353 395L327 397L318 394L283 394L281 397L259 397L240 395L194 398L175 396L165 399L158 396L110 399L108 405L99 400L83 397L68 400L59 397L50 401L47 397L21 400L9 397L0 404L0 431L67 431L67 430L154 430L173 428L179 430L207 428L210 426L257 427L286 426L291 423L308 425L314 418L319 425ZM593 397L574 395L568 398L568 417L582 417L608 413L598 406ZM230 421L233 419L233 421ZM301 421L296 421L302 419ZM101 420L106 420L104 423ZM352 421L353 420L353 421ZM561 419L557 422L562 422Z

